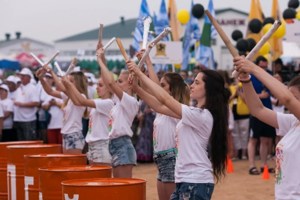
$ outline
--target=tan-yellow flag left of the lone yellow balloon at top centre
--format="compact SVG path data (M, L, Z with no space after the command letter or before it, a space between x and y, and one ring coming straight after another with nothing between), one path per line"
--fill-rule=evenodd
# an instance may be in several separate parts
M181 23L177 19L177 7L175 0L169 0L168 16L170 27L172 28L172 39L173 41L179 41L179 37L183 33L183 28Z

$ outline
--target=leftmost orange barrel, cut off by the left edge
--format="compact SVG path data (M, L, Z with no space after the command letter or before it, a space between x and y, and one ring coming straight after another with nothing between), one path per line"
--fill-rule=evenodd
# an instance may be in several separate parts
M0 200L7 200L7 152L10 145L42 144L43 141L0 142Z

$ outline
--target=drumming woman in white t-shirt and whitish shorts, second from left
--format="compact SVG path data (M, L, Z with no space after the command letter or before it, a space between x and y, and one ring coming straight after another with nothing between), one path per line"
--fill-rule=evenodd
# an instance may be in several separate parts
M100 78L97 82L97 95L101 99L87 100L80 95L76 87L63 77L62 82L70 91L70 99L78 102L79 106L92 108L89 116L88 131L85 141L88 143L87 159L90 165L111 165L111 155L108 150L108 122L109 113L114 107L112 93Z

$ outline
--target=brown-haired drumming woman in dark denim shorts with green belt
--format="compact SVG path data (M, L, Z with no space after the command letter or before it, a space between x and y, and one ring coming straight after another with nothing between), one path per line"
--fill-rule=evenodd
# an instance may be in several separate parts
M141 58L144 52L141 50L139 53L140 55L137 57ZM145 63L149 77L154 83L160 85L168 95L178 102L190 105L190 87L180 74L167 73L159 81L149 56L146 57ZM131 76L129 76L129 81L131 82L131 80ZM145 84L141 83L141 87L139 87L137 82L133 83L135 83L133 90L136 94L157 112L153 126L153 158L158 169L157 192L159 200L169 200L175 190L175 129L180 119L176 115L167 116L168 108L154 97Z

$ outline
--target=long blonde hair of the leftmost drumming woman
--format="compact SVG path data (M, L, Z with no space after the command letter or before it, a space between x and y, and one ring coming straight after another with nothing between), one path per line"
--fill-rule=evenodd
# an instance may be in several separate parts
M76 88L81 93L84 94L86 99L88 99L88 93L87 93L87 78L83 74L82 71L74 71L70 73L70 75L74 76L74 80L76 82ZM69 101L69 98L64 101L64 104L62 105L62 109L67 106L67 103ZM87 108L85 108L85 111L83 113L83 117L88 117Z

